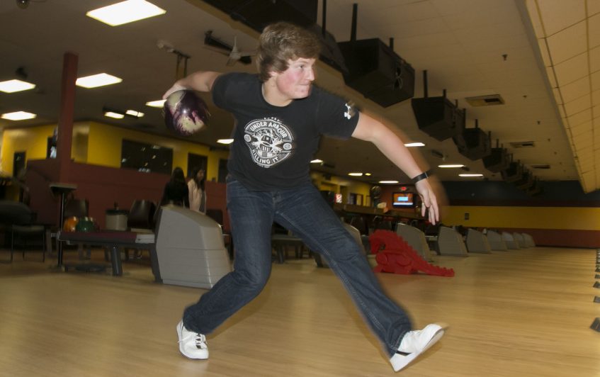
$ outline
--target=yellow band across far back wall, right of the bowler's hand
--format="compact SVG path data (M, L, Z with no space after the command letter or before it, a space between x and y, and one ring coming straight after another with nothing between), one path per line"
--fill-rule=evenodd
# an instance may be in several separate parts
M441 221L465 227L600 230L600 208L451 206L443 208Z

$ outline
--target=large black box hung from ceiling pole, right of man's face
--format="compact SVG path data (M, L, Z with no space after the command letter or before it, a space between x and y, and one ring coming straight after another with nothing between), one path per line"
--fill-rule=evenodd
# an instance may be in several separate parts
M348 72L344 82L378 105L387 107L414 96L414 69L378 38L356 40L357 4L353 4L351 38L338 43Z

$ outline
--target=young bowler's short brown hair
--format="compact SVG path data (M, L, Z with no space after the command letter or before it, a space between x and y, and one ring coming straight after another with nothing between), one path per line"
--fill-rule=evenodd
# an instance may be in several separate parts
M300 57L317 59L321 52L321 41L312 31L293 23L278 22L264 28L259 38L256 65L259 78L267 81L271 72L288 69L288 60Z

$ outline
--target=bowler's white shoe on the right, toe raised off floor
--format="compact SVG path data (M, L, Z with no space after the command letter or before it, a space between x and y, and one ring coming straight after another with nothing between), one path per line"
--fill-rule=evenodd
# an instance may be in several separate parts
M396 354L390 358L390 363L394 371L400 371L400 369L407 366L411 361L417 359L417 356L426 351L426 349L436 344L443 336L446 327L446 325L433 323L426 325L423 330L407 332L402 338Z

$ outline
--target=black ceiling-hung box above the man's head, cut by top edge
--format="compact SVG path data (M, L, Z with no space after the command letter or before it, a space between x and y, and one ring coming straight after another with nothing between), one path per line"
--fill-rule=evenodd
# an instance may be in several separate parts
M236 21L261 32L269 23L288 21L305 28L317 23L318 0L204 0Z

